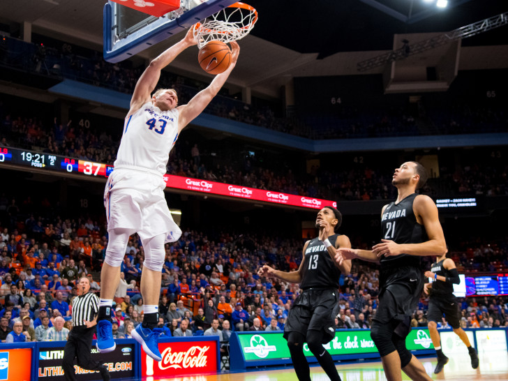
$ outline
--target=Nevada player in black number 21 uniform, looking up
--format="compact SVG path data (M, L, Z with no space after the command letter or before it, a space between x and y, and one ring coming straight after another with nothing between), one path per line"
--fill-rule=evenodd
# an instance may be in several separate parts
M382 242L372 251L338 248L336 260L360 258L380 262L379 306L373 318L373 339L388 381L402 380L401 369L412 380L431 380L424 366L405 348L410 315L417 307L424 278L419 255L442 255L446 251L438 208L425 195L414 193L424 186L425 168L414 161L403 163L394 173L396 202L381 213Z

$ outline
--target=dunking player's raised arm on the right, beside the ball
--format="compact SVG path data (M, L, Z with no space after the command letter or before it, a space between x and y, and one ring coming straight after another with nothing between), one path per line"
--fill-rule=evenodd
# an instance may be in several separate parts
M240 53L240 47L236 41L232 41L232 57L230 66L225 72L215 76L214 80L206 89L203 89L197 93L186 105L177 107L179 111L178 117L178 132L184 129L195 117L203 112L203 110L209 105L211 100L218 94L223 85L225 84L227 77L230 76L234 66L237 64L238 55Z

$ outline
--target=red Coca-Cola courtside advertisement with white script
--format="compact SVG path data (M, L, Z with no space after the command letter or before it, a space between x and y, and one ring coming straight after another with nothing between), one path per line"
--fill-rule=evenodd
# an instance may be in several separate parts
M218 336L173 338L159 340L162 361L154 361L141 349L143 378L167 378L168 375L197 375L217 373L219 368Z

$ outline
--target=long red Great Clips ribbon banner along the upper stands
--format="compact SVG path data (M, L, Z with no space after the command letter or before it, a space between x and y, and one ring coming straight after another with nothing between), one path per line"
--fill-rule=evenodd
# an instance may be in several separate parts
M229 197L244 198L248 200L271 202L273 204L290 205L293 207L304 207L321 209L323 207L337 207L337 203L331 200L319 198L290 195L278 191L265 191L263 189L248 188L246 186L217 183L215 181L192 179L191 177L174 176L165 174L164 181L170 188L184 189L200 193L211 193Z

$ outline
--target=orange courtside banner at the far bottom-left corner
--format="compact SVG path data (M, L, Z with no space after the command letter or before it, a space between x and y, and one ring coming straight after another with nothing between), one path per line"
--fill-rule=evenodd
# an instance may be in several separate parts
M32 348L0 348L0 380L29 381L31 379Z

